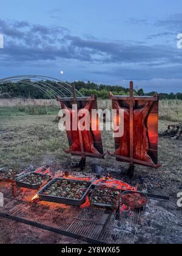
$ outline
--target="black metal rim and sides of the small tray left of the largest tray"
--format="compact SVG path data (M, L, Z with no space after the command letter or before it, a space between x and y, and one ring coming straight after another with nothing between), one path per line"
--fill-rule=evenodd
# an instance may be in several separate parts
M39 185L30 185L30 184L27 184L27 183L24 183L24 182L20 181L21 179L23 179L24 177L29 176L30 174L36 174L38 176L45 176L45 175L47 175L47 174L42 174L42 173L37 173L37 172L27 172L26 174L24 174L24 175L22 175L22 176L20 176L20 177L15 179L16 185L18 187L21 187L21 188L29 188L30 190L39 190L42 186L44 186L51 179L51 177L49 175L47 175L47 176L50 177L50 179L49 180L45 180L44 183L39 184Z

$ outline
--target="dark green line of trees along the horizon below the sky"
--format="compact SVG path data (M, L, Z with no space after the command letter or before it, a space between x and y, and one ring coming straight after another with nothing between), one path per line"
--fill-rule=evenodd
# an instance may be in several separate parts
M27 80L29 82L29 80ZM50 80L45 81L49 84L54 85L54 87L58 88L59 84ZM38 82L32 82L32 84L39 85ZM90 96L94 94L97 98L108 99L108 92L112 91L114 95L129 95L129 88L124 88L120 85L104 85L104 84L95 84L93 82L83 82L77 81L73 83L67 82L67 84L74 84L76 90L82 93L84 96ZM1 98L32 98L32 99L48 99L47 94L38 90L38 88L33 85L27 85L23 81L21 82L8 82L7 84L0 85L0 97ZM55 94L51 89L47 89L47 93ZM134 94L138 96L153 96L155 91L151 93L144 93L142 88L135 89ZM159 93L160 99L181 99L182 93Z

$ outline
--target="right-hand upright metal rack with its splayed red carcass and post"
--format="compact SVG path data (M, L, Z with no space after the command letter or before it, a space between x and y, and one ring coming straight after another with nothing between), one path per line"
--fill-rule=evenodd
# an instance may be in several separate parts
M133 96L133 82L130 82L129 96L110 93L110 99L113 109L124 111L124 135L115 137L116 150L108 154L118 161L130 163L129 177L133 176L135 164L159 168L158 95Z

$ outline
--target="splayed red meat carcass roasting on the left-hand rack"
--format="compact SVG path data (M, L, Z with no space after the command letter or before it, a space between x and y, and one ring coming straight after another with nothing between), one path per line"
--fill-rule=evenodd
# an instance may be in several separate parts
M75 122L77 120L77 116L76 116L77 112L72 108L68 108L64 104L64 102L61 101L61 99L58 99L58 101L61 103L61 107L62 107L62 109L64 109L65 113L68 112L68 114L70 115L70 122L71 122L70 127L71 127L73 143L72 143L72 146L70 146L69 150L66 150L66 153L75 152L75 151L81 152L81 142L80 142L80 135L79 135L79 130L78 130L79 127L77 124L78 129L74 130L73 124L72 124L73 120L75 120ZM82 110L89 110L91 105L92 105L92 101L88 101L86 104L86 107L78 110L78 113L81 112ZM86 113L89 113L89 112L86 112ZM84 118L86 120L88 120L88 122L89 122L89 119L87 118L87 116L84 116ZM81 118L78 118L78 120L79 119L81 119ZM90 123L88 125L90 127ZM85 127L87 127L87 124L85 124ZM92 136L90 129L89 130L87 130L87 129L81 130L80 133L81 133L81 137L83 140L84 152L100 155L99 152L97 151L97 149L94 147L93 136Z

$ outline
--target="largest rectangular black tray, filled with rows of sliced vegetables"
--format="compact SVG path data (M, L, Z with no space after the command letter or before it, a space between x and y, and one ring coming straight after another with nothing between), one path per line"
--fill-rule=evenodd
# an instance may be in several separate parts
M80 206L90 191L92 182L56 178L51 180L41 191L39 200Z

